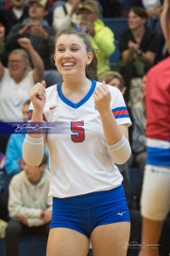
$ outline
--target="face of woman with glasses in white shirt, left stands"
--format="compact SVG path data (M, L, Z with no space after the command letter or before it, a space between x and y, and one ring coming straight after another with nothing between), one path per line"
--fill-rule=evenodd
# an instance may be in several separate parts
M8 57L8 71L10 77L22 78L26 70L26 64L21 53L10 53Z

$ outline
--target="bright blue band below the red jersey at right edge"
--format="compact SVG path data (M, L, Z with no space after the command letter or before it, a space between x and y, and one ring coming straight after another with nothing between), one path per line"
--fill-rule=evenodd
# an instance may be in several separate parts
M158 166L170 166L170 149L146 147L147 164Z

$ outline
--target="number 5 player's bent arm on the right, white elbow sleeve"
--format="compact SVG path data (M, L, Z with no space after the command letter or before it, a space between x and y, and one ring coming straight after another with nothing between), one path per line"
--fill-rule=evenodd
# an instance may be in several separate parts
M93 93L96 109L100 114L108 152L114 163L123 164L131 154L127 125L118 125L110 110L110 91L105 82Z

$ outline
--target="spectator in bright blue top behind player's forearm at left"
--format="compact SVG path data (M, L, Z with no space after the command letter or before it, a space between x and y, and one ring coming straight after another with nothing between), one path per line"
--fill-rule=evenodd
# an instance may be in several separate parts
M30 100L27 100L23 105L23 121L26 122L28 119L28 109ZM18 174L25 166L25 162L22 157L22 147L25 139L25 134L13 134L8 139L8 145L6 150L6 173L7 174ZM48 152L45 151L48 155Z

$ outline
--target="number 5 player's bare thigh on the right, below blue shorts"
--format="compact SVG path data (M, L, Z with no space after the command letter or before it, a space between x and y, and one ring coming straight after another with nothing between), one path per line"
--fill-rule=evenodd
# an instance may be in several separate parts
M118 222L93 229L91 241L94 256L126 256L129 222Z

